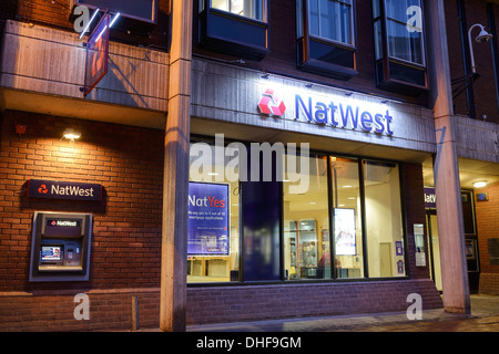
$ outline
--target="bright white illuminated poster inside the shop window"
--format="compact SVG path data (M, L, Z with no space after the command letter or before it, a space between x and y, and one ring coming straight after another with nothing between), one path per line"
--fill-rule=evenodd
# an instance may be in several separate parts
M337 256L355 256L355 209L335 209L335 251Z

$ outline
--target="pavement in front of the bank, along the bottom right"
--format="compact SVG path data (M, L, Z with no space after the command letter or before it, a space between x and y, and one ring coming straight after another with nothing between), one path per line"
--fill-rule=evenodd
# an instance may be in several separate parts
M471 295L471 314L438 309L422 311L421 320L389 312L191 325L187 332L499 332L499 296Z

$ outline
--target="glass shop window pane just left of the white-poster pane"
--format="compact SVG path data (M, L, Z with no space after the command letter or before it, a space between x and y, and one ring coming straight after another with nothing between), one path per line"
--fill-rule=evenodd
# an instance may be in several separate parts
M306 191L293 192L296 176L283 183L286 280L332 277L327 157L312 155L307 162L308 170L299 171L301 181L308 180Z

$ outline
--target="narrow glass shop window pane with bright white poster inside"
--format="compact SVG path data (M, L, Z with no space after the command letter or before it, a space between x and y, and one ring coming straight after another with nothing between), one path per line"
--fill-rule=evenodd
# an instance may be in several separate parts
M358 160L330 157L336 278L364 278Z

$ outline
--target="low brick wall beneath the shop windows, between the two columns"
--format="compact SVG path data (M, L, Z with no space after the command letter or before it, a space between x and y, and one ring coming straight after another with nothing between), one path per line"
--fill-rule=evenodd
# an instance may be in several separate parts
M424 310L442 306L428 279L190 288L187 324L406 311L410 293Z

